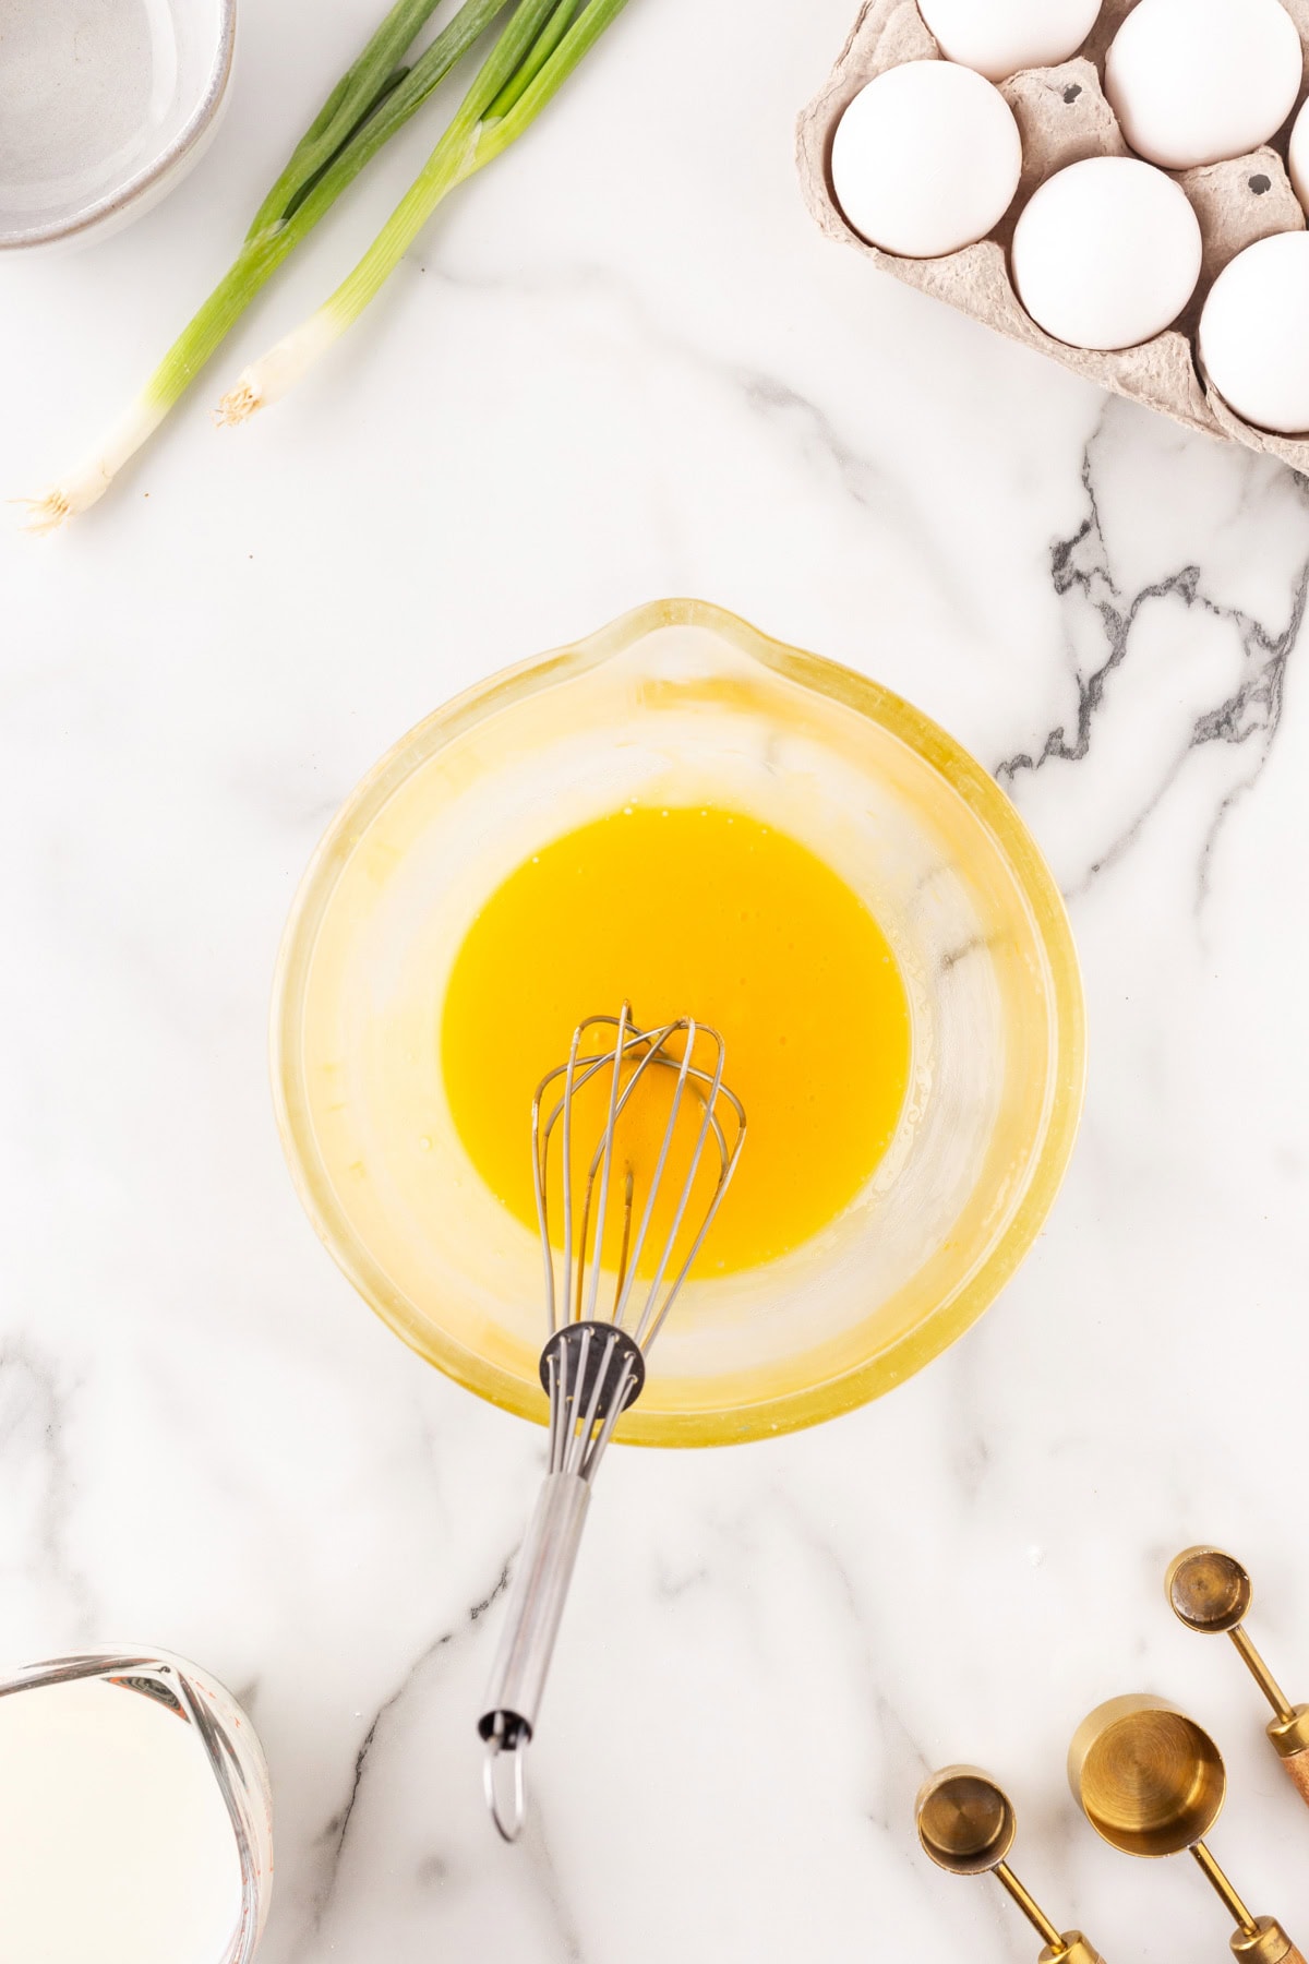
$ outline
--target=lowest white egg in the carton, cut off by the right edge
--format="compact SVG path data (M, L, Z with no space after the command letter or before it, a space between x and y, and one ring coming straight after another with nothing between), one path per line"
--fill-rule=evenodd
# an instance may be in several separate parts
M1199 316L1199 357L1260 430L1309 432L1309 232L1278 232L1223 267Z

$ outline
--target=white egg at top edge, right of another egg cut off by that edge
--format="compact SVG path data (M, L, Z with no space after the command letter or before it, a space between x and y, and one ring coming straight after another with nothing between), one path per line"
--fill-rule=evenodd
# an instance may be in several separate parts
M1134 151L1189 171L1266 143L1303 69L1282 0L1140 0L1109 47L1105 94Z

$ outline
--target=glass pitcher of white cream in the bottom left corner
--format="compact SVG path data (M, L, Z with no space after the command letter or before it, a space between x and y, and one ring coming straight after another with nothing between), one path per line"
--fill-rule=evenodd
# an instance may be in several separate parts
M92 1652L0 1681L0 1929L14 1964L249 1964L269 1772L208 1671Z

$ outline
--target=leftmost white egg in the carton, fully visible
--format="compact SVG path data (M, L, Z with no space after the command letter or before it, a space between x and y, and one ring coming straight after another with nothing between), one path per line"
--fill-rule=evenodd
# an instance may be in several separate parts
M985 238L1021 171L1013 110L954 61L907 61L877 75L832 139L836 202L869 244L903 259L938 259Z

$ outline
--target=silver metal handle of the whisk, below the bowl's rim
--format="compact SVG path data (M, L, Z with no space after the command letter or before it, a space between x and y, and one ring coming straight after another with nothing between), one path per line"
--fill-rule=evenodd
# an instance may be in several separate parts
M591 1485L579 1473L550 1473L528 1526L508 1599L487 1701L477 1730L493 1752L520 1752L553 1658Z

